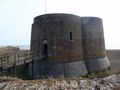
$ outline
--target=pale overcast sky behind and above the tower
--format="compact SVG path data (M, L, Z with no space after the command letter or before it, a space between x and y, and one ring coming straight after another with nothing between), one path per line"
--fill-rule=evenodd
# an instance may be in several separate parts
M120 0L46 0L46 13L70 13L103 19L107 49L120 49ZM44 0L0 0L0 46L29 45L35 16Z

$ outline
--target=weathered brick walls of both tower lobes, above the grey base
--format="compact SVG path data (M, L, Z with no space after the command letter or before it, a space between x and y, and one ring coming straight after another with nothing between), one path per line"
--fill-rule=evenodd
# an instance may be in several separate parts
M70 32L73 40L69 40ZM80 18L68 14L38 16L32 25L31 38L31 50L37 56L42 56L43 40L48 40L48 55L53 61L96 59L106 56L100 18Z

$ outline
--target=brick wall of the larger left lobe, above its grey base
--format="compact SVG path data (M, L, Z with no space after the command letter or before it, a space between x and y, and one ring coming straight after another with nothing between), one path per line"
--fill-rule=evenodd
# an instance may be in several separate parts
M79 16L49 14L38 16L32 25L31 50L42 55L43 40L48 41L48 60L70 62L83 60ZM70 40L72 32L73 40Z

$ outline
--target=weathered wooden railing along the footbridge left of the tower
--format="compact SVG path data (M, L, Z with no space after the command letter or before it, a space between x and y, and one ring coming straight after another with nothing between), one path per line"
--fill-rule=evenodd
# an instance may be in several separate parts
M32 52L18 52L10 55L0 56L0 67L3 69L13 67L15 65L22 65L30 63L33 60Z

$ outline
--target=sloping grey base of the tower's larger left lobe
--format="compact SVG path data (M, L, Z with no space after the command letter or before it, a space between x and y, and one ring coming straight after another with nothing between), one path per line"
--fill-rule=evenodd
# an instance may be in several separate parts
M30 76L32 65L29 65ZM76 62L34 62L33 66L34 79L40 77L77 77L88 74L84 60Z

